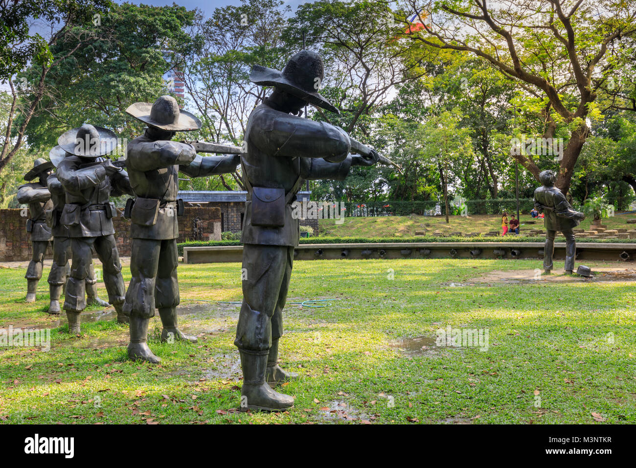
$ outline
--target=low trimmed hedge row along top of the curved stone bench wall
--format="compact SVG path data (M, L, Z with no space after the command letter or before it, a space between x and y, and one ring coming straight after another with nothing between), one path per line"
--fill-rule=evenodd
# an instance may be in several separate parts
M565 239L557 236L556 239ZM421 236L413 238L301 238L301 244L379 244L379 243L414 243L414 242L544 242L546 238L539 236L497 236L485 237L477 236L474 238L466 238L460 236ZM563 241L562 240L562 241ZM577 243L600 242L600 243L636 243L636 239L577 239ZM188 241L177 244L179 255L183 255L184 247L202 247L202 246L223 246L223 245L241 245L240 241Z

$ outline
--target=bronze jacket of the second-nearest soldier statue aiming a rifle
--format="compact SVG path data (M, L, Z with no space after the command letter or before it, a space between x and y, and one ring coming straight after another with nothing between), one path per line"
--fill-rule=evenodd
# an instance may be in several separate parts
M225 155L201 157L188 143L153 140L146 133L128 143L126 168L134 191L130 237L176 239L179 171L191 177L232 172ZM158 200L158 209L156 200Z

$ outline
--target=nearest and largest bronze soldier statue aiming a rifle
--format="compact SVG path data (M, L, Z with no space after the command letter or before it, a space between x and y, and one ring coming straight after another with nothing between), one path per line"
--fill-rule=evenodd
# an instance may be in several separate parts
M252 82L274 90L252 111L245 131L247 152L241 156L247 188L242 233L247 278L242 282L243 304L234 344L243 369L244 410L281 411L294 403L293 397L275 392L268 384L297 377L283 371L277 361L282 309L299 237L291 203L301 181L344 180L350 166L370 166L379 158L375 150L366 157L349 155L355 141L345 131L300 117L307 103L338 113L317 92L322 78L322 60L308 50L291 57L282 72L254 66L249 76Z

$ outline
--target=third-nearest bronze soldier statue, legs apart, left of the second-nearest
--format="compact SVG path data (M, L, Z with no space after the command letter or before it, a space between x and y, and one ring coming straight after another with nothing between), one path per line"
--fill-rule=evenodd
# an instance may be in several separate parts
M102 127L82 125L62 134L57 143L69 153L57 167L57 177L66 192L60 223L68 228L73 251L64 300L69 332L79 333L79 313L86 308L85 283L93 249L102 262L108 302L117 311L117 321L125 323L125 288L112 220L117 211L110 197L132 194L132 189L126 171L105 157L116 148L116 135Z

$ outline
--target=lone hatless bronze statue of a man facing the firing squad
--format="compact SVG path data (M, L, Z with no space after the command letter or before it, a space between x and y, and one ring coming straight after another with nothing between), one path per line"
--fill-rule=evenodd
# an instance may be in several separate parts
M576 239L572 229L581 223L585 215L574 211L563 192L554 186L556 175L553 171L543 171L539 174L539 181L543 183L543 187L534 191L534 206L545 215L546 246L543 253L543 269L546 274L550 274L553 269L555 236L556 231L560 230L565 236L565 272L572 274L576 257Z

